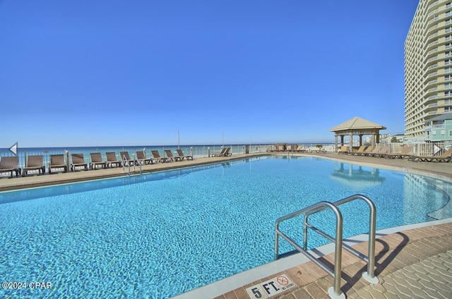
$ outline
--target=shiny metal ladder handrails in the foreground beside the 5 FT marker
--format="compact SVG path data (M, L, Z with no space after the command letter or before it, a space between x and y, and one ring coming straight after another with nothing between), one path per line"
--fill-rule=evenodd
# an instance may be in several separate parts
M347 202L351 202L353 200L364 200L364 202L367 202L367 205L369 205L369 247L368 247L368 255L363 255L361 252L353 249L350 245L343 243L343 216L340 213L340 210L338 209L339 205L343 205ZM332 236L329 236L324 231L321 231L319 228L316 228L315 226L309 224L309 215L316 214L318 212L322 212L326 209L331 209L335 216L336 216L336 233L335 238ZM279 225L282 221L285 221L287 219L292 219L296 216L304 214L304 244L303 247L298 245L295 240L290 238L289 236L286 236L285 233L280 231ZM362 277L369 281L370 283L379 283L379 279L374 275L374 266L375 266L375 226L376 226L376 209L374 202L372 202L369 197L366 197L364 195L352 195L350 197L345 197L343 200L338 200L337 202L318 202L315 205L311 205L310 207L306 207L304 209L300 209L297 212L293 212L291 214L288 214L286 216L282 216L276 220L275 223L275 260L278 260L279 257L279 237L284 238L287 240L290 245L292 245L296 250L299 252L302 252L306 257L309 258L312 262L314 262L316 265L321 267L326 273L333 276L334 279L334 286L331 288L328 288L328 295L330 298L345 298L344 293L340 291L340 274L342 271L342 249L344 248L348 252L352 253L352 255L355 255L359 257L361 260L364 260L364 262L367 262L367 271L364 271L362 273ZM315 231L316 233L319 233L324 238L327 238L328 240L331 240L335 243L335 253L334 253L334 271L331 271L329 267L326 266L326 264L323 264L323 262L320 262L319 260L314 257L314 255L311 255L310 252L307 250L307 243L308 243L308 228L311 228L311 230Z

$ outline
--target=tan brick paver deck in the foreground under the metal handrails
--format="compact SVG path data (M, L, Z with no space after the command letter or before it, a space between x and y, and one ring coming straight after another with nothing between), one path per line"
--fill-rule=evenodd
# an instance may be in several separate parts
M367 242L352 247L367 255ZM322 258L329 262L333 259L333 253ZM341 291L347 298L452 298L452 223L377 238L375 262L379 283L371 284L362 278L367 264L343 251ZM313 262L275 276L281 274L286 274L297 284L297 288L272 298L329 298L328 288L333 286L333 278ZM249 299L246 288L272 277L254 281L215 299Z

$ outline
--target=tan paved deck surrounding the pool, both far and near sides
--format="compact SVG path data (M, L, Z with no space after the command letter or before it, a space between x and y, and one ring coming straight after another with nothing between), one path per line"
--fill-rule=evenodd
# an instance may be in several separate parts
M261 153L266 154L266 153ZM261 154L241 154L232 157L210 157L194 159L193 161L177 161L162 164L145 165L143 173L177 169L180 167L213 164L254 157ZM287 153L284 153L287 155ZM290 154L292 155L292 153ZM295 153L293 153L295 155ZM384 159L378 157L356 157L326 154L296 154L318 156L326 159L358 163L364 166L393 169L417 174L429 173L429 176L452 182L452 163L413 162L407 159ZM124 176L128 169L97 169L90 171L75 171L68 173L52 173L42 176L27 176L0 178L0 191L30 188L56 183L71 183L75 181L92 180ZM138 167L131 173L139 173ZM367 271L367 265L354 255L343 250L341 291L346 298L452 298L452 219L435 221L427 224L393 228L377 232L375 274L378 284L371 284L362 278L362 272ZM367 255L367 242L359 241L353 248ZM333 267L334 253L319 257L320 260ZM284 259L283 259L284 260ZM285 274L295 286L271 298L306 299L329 298L328 288L333 286L333 278L313 262L294 264L283 271L255 279L243 284L227 285L222 283L220 294L203 294L202 298L215 299L246 299L250 297L246 288L275 279ZM226 284L226 285L225 285ZM214 288L215 289L215 288ZM181 298L201 298L197 290L182 294ZM179 296L178 296L179 297ZM263 297L265 298L265 297Z

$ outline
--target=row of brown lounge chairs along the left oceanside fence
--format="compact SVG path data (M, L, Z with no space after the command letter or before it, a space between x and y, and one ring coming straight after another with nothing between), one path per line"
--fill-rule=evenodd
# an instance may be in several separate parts
M169 161L183 161L184 159L189 160L193 159L191 155L186 155L182 150L177 150L178 156L174 156L170 150L165 150L165 154L167 157L160 157L160 154L157 150L152 151L153 158L147 158L145 152L136 152L133 156L133 159L129 157L129 152L120 152L120 159L117 159L117 154L115 152L107 152L105 155L107 159L102 160L102 155L100 153L90 153L90 163L85 162L83 154L71 154L71 171L76 171L77 169L88 170L88 166L90 169L97 169L98 167L107 168L107 167L121 167L129 165L144 165L144 164L153 164L154 162L169 162ZM16 176L20 174L22 176L26 176L29 171L38 171L37 174L41 175L45 173L46 168L44 166L44 156L42 154L39 155L30 155L27 157L27 163L23 169L19 168L19 158L15 157L1 157L0 159L0 173L11 173L10 177L13 177L13 173L16 173ZM49 173L56 170L62 170L66 172L67 165L64 159L64 154L51 154L50 155L50 164L49 164Z

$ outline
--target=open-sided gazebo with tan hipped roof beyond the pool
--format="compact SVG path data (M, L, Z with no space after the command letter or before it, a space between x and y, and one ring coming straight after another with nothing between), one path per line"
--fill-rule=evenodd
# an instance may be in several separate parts
M378 123L372 123L360 117L354 117L338 126L330 129L330 132L334 132L335 149L338 150L338 137L340 137L340 145L344 145L344 136L349 136L349 147L352 150L353 135L359 136L359 146L362 145L362 136L371 135L372 145L379 143L380 130L386 130L385 126L381 126Z

